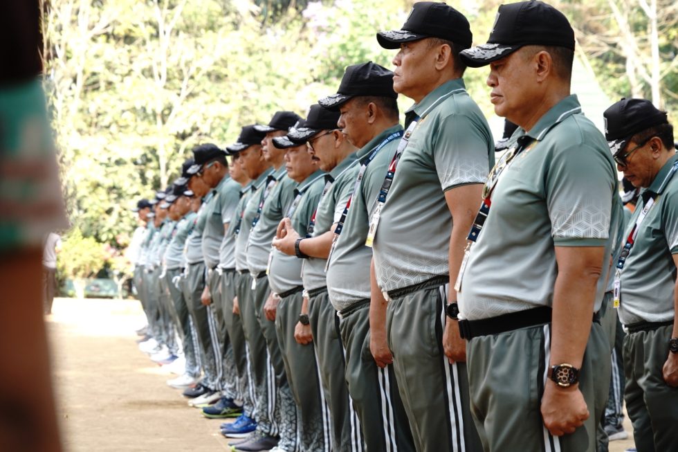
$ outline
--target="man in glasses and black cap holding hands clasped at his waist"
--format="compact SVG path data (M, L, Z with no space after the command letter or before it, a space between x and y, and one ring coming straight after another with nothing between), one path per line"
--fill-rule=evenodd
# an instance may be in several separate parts
M337 128L338 111L312 105L306 120L287 134L293 143L306 143L318 168L327 172L320 203L315 208L304 235L299 235L291 219L283 220L286 235L273 239L273 246L287 255L305 259L302 267L304 293L295 327L295 340L302 345L313 342L329 413L325 417L333 451L362 448L351 431L356 421L346 386L344 350L339 338L338 317L329 302L325 267L332 244L336 220L342 214L358 172L356 147ZM297 253L298 251L298 253ZM322 404L321 406L324 406ZM329 414L329 416L328 416ZM329 419L327 419L329 417ZM352 418L352 419L351 419Z

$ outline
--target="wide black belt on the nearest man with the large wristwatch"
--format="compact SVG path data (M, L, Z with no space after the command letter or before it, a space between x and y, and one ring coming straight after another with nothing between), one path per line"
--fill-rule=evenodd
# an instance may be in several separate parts
M459 320L459 335L463 339L470 340L477 336L488 336L520 328L535 327L544 325L544 323L551 323L552 315L553 309L551 307L540 306L481 320ZM601 323L597 312L593 315L593 321Z

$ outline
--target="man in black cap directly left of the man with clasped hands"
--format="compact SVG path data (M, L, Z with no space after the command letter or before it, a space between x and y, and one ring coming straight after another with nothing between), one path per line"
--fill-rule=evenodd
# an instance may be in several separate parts
M290 133L293 131L291 129ZM291 204L284 208L284 217L290 219L297 233L305 232L322 194L324 174L311 158L305 141L294 143L288 136L283 136L273 138L273 145L286 150L287 175L297 183ZM278 233L277 237L280 238L284 231L279 229ZM313 345L309 345L309 341L300 343L295 340L295 327L303 302L302 260L272 248L268 262L266 282L270 290L265 293L268 301L267 307L264 307L266 318L262 319L262 329L280 385L280 398L285 396L288 387L297 408L297 447L308 451L329 451L331 444L327 405L318 380ZM268 309L271 305L275 310ZM277 355L280 356L280 361L275 359ZM284 379L281 378L282 375ZM291 415L292 413L285 413L284 416ZM282 420L284 422L286 419L283 417ZM283 449L282 446L279 448Z

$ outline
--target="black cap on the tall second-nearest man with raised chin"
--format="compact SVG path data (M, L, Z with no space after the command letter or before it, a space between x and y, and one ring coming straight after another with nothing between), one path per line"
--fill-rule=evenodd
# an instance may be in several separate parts
M403 42L438 37L469 48L473 41L468 19L461 12L437 1L414 3L400 30L380 31L376 40L383 48L399 48Z

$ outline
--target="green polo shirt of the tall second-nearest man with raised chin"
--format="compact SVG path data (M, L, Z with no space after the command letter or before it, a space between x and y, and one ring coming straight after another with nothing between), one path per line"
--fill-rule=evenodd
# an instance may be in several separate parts
M422 119L398 162L374 238L378 283L387 291L449 273L445 192L484 183L494 165L490 127L463 80L428 93L406 112L407 122L415 115Z

